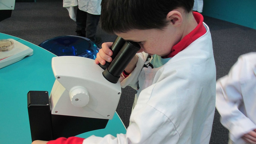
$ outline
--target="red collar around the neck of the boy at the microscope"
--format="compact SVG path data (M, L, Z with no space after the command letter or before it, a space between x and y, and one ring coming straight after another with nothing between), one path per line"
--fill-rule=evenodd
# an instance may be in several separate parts
M183 39L181 39L180 42L178 42L176 45L172 47L171 52L164 56L163 58L171 58L175 56L177 53L179 53L181 50L184 50L189 46L193 41L201 37L206 33L206 29L203 25L203 15L201 15L199 12L193 12L193 15L195 17L195 20L197 21L198 25L196 28L191 31L188 35L186 35Z

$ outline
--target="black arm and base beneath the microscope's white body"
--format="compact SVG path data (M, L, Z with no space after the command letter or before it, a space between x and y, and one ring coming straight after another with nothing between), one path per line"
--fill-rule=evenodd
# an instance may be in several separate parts
M108 124L108 119L52 115L47 91L29 91L27 98L32 141L72 137Z

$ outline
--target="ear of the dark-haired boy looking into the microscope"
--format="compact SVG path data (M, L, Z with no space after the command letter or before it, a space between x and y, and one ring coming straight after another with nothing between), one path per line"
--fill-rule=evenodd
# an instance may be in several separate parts
M176 10L170 11L166 16L166 19L174 26L180 25L183 21L181 13Z

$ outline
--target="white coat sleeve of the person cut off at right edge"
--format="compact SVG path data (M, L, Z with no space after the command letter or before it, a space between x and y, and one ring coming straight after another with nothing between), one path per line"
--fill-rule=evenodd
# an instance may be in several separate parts
M230 131L229 137L233 142L256 128L255 124L239 110L243 103L240 82L247 76L244 73L245 69L245 61L243 57L239 57L228 75L216 83L216 108L221 115L220 121Z

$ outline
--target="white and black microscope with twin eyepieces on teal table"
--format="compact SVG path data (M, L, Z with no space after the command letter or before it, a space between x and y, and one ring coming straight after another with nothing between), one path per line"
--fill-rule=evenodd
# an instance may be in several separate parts
M117 37L110 49L113 61L105 65L79 56L52 58L56 80L50 96L48 91L27 94L32 141L72 137L106 127L121 96L120 75L140 45Z

